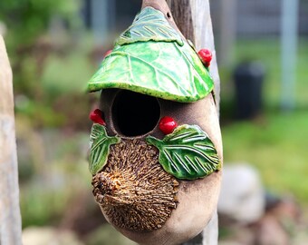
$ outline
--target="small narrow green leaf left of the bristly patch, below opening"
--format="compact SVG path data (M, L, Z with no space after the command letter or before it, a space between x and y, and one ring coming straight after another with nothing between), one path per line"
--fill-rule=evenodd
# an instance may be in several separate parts
M90 136L90 165L91 174L101 171L107 163L111 144L119 143L120 137L108 136L104 126L94 123Z

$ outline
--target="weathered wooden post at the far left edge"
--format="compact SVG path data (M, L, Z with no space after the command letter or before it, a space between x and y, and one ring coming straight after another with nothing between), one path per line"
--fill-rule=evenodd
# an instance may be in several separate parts
M12 71L0 35L0 244L22 244Z

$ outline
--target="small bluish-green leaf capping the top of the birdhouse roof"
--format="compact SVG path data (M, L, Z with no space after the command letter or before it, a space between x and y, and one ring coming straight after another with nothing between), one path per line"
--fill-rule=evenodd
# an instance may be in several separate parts
M116 41L116 44L131 44L147 41L178 42L183 40L178 32L168 24L165 16L152 7L145 7L134 19L130 27Z

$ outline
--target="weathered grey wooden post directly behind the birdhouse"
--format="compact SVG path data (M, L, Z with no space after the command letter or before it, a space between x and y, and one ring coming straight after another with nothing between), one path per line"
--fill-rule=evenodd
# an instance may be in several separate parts
M214 44L212 21L208 0L167 0L172 16L181 33L193 44L196 49L209 49L213 54L210 73L215 83L217 112L219 113L220 80L217 69L217 55ZM216 245L218 235L217 213L213 215L207 227L195 239L183 245Z

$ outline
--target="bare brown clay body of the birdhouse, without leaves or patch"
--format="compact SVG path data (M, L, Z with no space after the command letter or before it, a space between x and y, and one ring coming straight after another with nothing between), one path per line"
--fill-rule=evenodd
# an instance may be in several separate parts
M121 138L144 139L148 135L162 139L165 135L160 132L158 124L144 135L126 137L117 131L117 122L114 122L112 108L118 89L105 90L101 93L101 111L104 113L106 129L109 135L119 135ZM217 117L217 107L212 94L196 103L176 103L157 99L160 107L160 118L170 116L181 124L196 124L207 132L214 142L218 156L222 162L222 141ZM149 108L150 110L150 108ZM130 119L128 119L130 120ZM179 181L179 180L178 180ZM196 181L179 181L178 207L172 211L171 217L158 230L132 231L120 230L122 234L144 245L179 244L195 237L207 225L217 208L220 190L221 171ZM108 217L106 217L108 220Z

